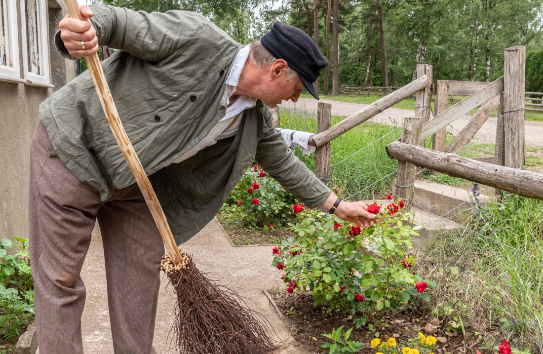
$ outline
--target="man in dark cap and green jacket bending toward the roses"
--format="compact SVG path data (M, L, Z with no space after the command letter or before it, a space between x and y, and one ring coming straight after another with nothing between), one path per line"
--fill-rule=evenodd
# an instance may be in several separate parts
M81 7L56 46L67 58L117 50L103 64L119 116L178 243L205 226L256 160L310 207L361 226L287 149L269 107L294 102L328 62L303 31L275 23L249 46L192 12ZM31 147L29 238L41 354L83 352L79 276L98 219L115 353L155 353L163 244L102 112L89 73L40 106Z

